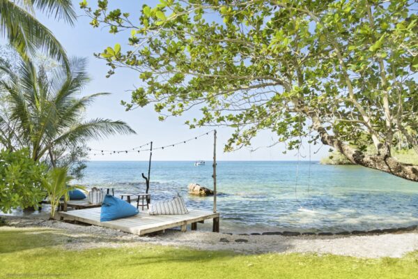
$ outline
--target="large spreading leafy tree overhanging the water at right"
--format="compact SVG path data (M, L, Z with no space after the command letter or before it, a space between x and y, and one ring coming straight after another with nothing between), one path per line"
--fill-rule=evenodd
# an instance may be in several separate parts
M199 108L189 126L236 128L226 149L272 130L290 149L301 137L352 163L418 181L392 156L401 133L418 153L417 6L414 1L160 1L130 17L91 8L93 27L129 30L129 47L98 57L139 72L128 110ZM373 153L364 152L374 146Z

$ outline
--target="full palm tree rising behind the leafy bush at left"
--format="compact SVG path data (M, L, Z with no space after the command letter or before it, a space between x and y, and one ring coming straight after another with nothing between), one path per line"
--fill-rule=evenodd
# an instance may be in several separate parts
M88 104L94 98L108 94L96 93L79 98L80 90L89 81L86 59L71 59L69 73L65 66L45 73L42 68L37 70L31 61L22 61L17 74L8 68L1 69L9 76L0 82L7 92L9 121L2 122L6 118L0 115L0 130L13 125L12 135L6 133L7 142L2 144L29 147L33 160L49 156L52 166L55 166L54 151L84 144L91 139L135 133L123 121L82 120Z

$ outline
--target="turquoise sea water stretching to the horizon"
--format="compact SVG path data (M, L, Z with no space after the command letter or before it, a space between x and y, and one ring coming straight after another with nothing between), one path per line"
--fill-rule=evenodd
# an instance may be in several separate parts
M193 162L153 162L153 201L180 193L188 207L212 210L212 197L187 194L189 183L212 188L211 164L195 167ZM148 162L87 165L79 182L89 188L115 188L115 195L145 190L141 172L147 172ZM418 183L365 167L302 162L295 187L296 169L296 162L218 162L221 229L338 232L418 224Z

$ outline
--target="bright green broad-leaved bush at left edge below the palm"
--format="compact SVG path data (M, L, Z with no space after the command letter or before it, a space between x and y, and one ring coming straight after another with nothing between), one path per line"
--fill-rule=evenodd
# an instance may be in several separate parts
M0 211L38 207L45 197L42 179L47 166L31 159L28 149L0 151Z

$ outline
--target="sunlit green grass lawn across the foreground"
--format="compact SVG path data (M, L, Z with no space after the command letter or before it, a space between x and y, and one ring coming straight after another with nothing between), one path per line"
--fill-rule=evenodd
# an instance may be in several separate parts
M418 278L418 252L402 259L239 255L187 248L63 250L58 229L0 227L0 278Z

